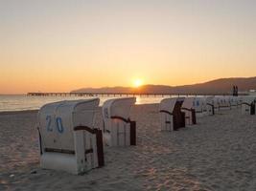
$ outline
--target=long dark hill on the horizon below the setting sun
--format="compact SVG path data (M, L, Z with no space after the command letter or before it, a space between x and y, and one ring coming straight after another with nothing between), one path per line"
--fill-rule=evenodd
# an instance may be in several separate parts
M81 88L71 93L122 93L122 94L231 94L233 86L238 86L239 92L256 90L255 77L230 77L220 78L204 83L168 86L168 85L143 85L139 88L131 87L103 87Z

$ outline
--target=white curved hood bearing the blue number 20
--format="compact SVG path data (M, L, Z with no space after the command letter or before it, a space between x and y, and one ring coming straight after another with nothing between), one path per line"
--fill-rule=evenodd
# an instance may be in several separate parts
M38 127L44 146L74 150L73 128L76 126L93 128L95 109L99 101L99 98L94 98L44 105L38 112Z

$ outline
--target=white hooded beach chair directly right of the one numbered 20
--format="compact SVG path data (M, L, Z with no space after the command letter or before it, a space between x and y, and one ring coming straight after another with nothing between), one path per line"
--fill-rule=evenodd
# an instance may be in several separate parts
M103 108L104 138L108 146L136 145L136 122L129 118L135 97L106 100Z

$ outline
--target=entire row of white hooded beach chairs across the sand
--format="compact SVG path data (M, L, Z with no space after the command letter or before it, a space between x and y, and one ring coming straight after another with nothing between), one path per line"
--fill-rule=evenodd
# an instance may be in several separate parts
M255 97L205 96L165 98L159 104L162 131L194 125L197 117L239 108L255 114ZM99 98L49 103L38 112L40 166L82 174L105 165L104 146L136 145L136 122L129 113L135 97L106 100L104 125L95 127Z

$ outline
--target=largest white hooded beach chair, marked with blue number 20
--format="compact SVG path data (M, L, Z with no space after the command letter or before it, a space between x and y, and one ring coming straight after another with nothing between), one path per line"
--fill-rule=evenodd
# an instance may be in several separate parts
M99 98L49 103L38 112L40 166L81 174L104 165L102 131L94 128Z

